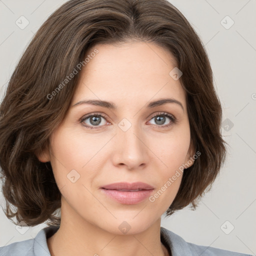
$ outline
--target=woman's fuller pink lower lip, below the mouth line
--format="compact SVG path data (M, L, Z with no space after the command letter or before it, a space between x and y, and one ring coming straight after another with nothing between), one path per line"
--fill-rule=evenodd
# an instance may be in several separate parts
M149 197L149 195L153 191L153 189L139 191L118 191L104 188L101 188L101 190L109 197L123 204L139 203L143 201L145 198Z

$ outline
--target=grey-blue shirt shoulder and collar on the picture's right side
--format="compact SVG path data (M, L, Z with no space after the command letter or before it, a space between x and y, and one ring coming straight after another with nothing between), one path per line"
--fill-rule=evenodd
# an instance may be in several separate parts
M252 256L224 249L219 249L210 246L203 246L186 242L181 236L172 231L161 227L161 239L171 250L172 255L189 255L189 256Z

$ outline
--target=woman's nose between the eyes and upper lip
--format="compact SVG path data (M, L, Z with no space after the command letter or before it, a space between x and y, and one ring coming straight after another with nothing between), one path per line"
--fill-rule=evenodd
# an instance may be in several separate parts
M113 143L112 161L115 166L125 165L131 170L148 164L150 150L146 146L145 135L138 126L132 124L125 130L120 125Z

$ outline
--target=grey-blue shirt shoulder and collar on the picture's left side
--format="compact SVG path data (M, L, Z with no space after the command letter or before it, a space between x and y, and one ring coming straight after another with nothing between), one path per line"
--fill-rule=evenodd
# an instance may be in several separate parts
M0 256L48 256L50 253L46 239L58 228L59 226L47 226L41 229L34 238L0 247Z

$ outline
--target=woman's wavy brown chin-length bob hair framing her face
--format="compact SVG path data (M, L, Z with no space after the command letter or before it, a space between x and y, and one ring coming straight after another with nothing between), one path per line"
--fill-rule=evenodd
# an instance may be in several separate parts
M60 83L78 63L85 66L95 44L126 41L153 42L173 54L182 71L191 143L201 153L184 169L166 216L189 203L195 209L211 188L226 155L222 112L206 50L187 19L167 0L70 0L33 36L0 105L2 193L9 219L30 226L60 224L56 212L61 193L51 164L35 154L49 148L49 136L65 118L80 70L64 86Z

